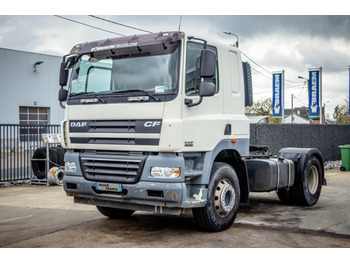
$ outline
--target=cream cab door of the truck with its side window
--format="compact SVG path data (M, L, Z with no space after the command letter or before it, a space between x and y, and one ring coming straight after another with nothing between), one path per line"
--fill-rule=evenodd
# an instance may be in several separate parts
M186 44L183 100L186 98L193 100L193 102L199 100L198 87L201 81L199 65L203 48L202 43L189 41ZM208 45L207 48L217 54L217 49L214 46ZM210 151L222 139L225 124L223 119L223 96L220 92L218 71L218 68L216 68L214 77L205 79L205 81L215 84L216 93L214 96L204 97L202 103L193 107L188 107L185 103L182 103L184 151Z

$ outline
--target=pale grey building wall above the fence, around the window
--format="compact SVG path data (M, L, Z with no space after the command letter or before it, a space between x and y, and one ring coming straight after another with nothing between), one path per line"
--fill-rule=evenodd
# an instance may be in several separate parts
M34 72L34 64L40 72ZM18 124L19 107L50 108L50 124L63 120L58 105L61 57L0 48L0 124ZM36 104L35 104L36 103Z

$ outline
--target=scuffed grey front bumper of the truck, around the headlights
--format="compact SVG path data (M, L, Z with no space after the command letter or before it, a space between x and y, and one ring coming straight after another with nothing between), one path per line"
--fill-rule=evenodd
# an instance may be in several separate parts
M157 207L195 208L206 204L207 189L185 180L184 158L177 154L149 156L140 180L134 184L121 183L123 190L120 193L96 190L96 181L87 180L82 174L79 153L68 151L65 161L77 164L76 172L65 172L63 179L64 190L67 195L74 196L77 203L146 211L156 211ZM149 171L157 165L180 167L180 178L151 178Z

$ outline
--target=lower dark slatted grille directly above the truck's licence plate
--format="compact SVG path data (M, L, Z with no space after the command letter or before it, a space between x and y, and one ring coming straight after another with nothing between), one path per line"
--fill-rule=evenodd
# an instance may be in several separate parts
M124 184L140 180L146 158L144 155L80 154L85 179Z

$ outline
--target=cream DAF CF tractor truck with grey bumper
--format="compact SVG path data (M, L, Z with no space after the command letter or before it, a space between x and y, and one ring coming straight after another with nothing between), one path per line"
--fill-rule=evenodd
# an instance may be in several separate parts
M110 218L192 211L201 229L222 231L249 192L318 201L318 149L271 157L250 145L250 67L234 46L183 32L78 44L60 86L63 183L75 203Z

